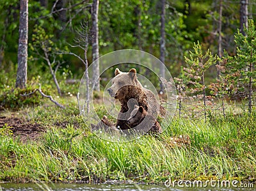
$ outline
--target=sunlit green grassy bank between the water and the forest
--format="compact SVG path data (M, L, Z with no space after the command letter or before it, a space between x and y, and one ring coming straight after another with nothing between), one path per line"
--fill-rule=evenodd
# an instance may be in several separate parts
M116 143L88 130L90 123L84 124L75 100L66 110L48 104L3 114L26 116L44 132L26 142L0 137L0 181L164 183L214 180L217 173L225 180L256 180L255 112L206 124L175 117L159 136Z

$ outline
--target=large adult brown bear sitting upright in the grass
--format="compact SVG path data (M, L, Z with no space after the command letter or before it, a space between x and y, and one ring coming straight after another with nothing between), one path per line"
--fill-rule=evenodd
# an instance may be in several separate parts
M127 119L131 116L134 105L142 106L148 114L164 117L166 110L159 105L156 96L149 89L143 88L136 76L136 69L132 68L129 72L121 72L118 68L115 70L115 77L112 79L112 86L108 88L108 93L121 103L121 109L118 113L116 128L127 130L131 127ZM106 122L106 123L105 123ZM108 125L108 120L104 123Z

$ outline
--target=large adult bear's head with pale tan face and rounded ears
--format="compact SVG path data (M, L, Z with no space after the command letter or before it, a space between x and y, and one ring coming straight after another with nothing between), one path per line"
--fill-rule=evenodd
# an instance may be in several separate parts
M122 96L118 95L121 93L121 91L118 90L125 88L125 86L137 86L142 88L136 76L136 69L132 68L129 72L121 72L116 68L115 77L112 79L112 86L108 88L108 93L111 97L118 99Z

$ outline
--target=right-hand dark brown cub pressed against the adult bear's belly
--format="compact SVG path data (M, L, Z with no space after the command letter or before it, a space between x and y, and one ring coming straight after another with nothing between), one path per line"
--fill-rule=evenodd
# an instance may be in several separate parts
M131 128L134 128L135 126L140 125L141 123L143 124L143 120L146 118L148 115L148 112L142 107L138 105L134 105L134 109L131 112L131 116L129 119L127 119L127 123L131 126ZM148 115L147 116L147 121L143 124L146 127L145 129L149 129L149 133L162 133L163 130L156 120L154 116Z

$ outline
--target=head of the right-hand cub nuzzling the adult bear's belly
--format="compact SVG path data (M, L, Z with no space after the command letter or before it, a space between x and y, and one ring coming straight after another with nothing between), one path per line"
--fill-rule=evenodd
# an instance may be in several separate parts
M147 116L147 111L142 106L134 105L134 109L131 112L130 118L127 119L127 123L129 125L138 125L145 116Z

